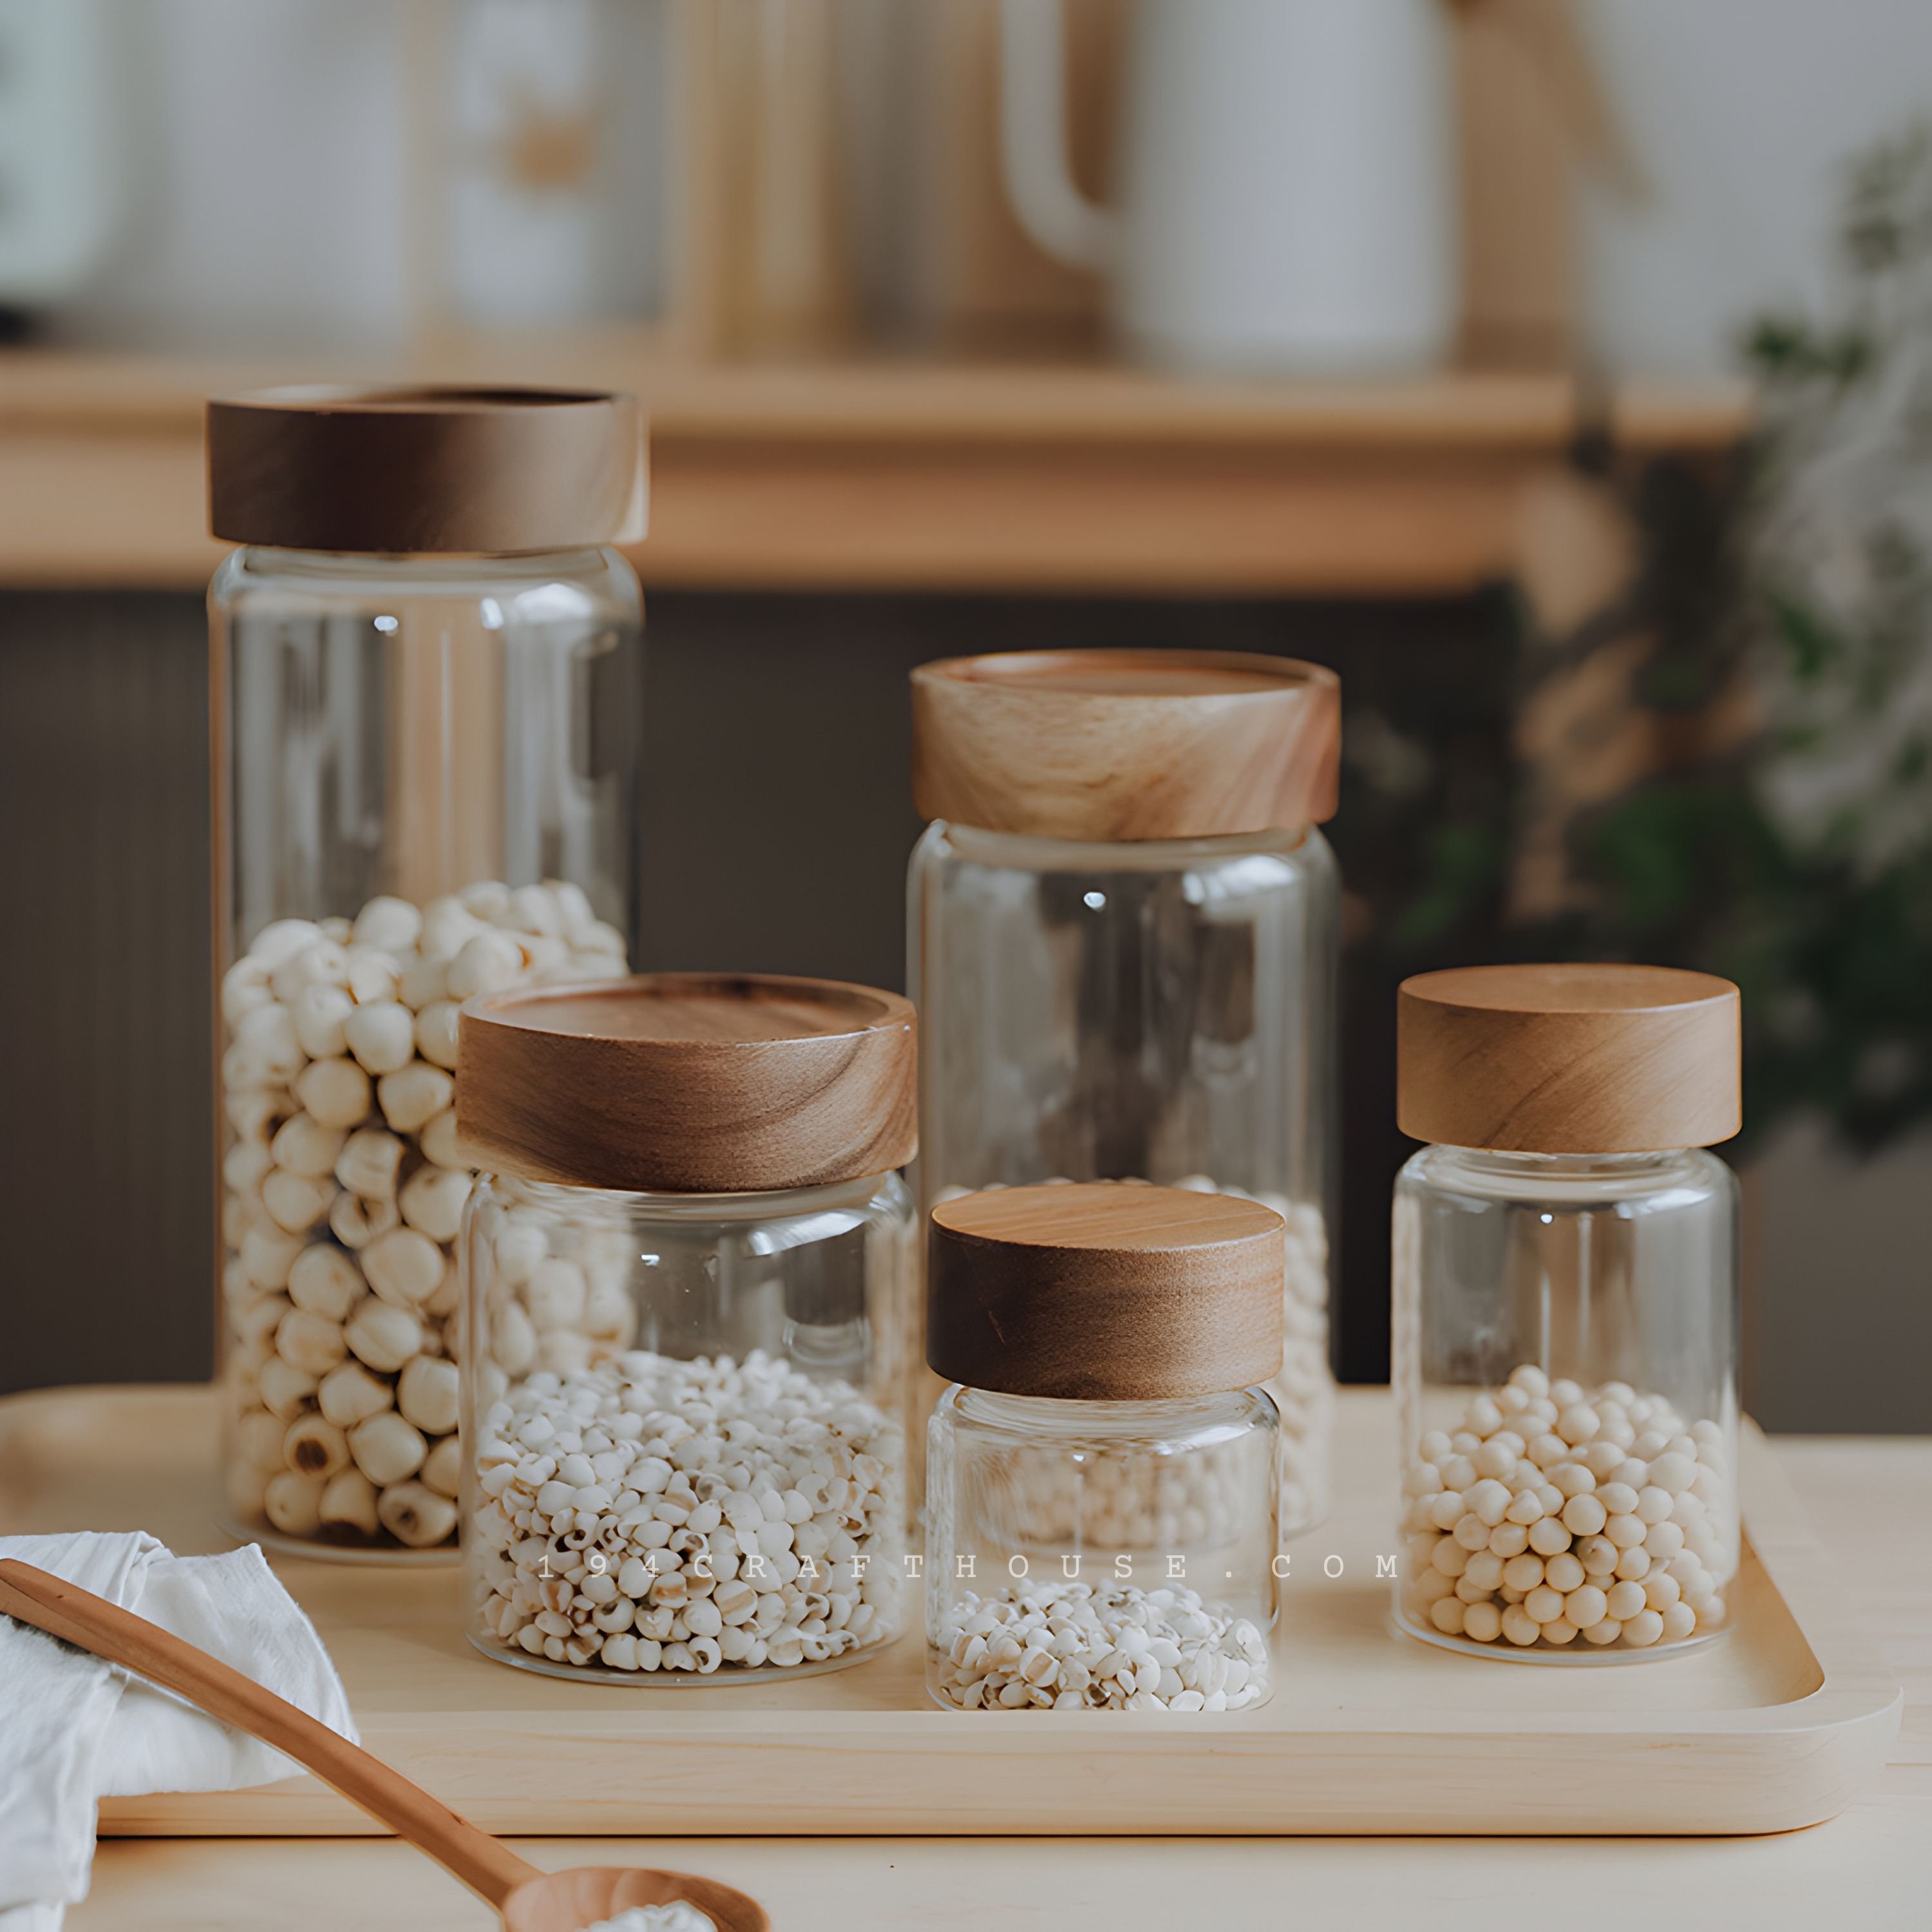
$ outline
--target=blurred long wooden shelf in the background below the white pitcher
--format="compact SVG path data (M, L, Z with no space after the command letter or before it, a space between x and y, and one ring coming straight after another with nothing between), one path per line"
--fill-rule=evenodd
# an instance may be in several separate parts
M394 377L394 365L381 371ZM1555 377L1173 381L1113 367L690 365L636 338L452 348L410 379L634 388L651 585L1453 593L1515 570L1526 489L1604 421L1719 450L1743 390ZM0 355L0 585L193 587L201 402L344 365Z

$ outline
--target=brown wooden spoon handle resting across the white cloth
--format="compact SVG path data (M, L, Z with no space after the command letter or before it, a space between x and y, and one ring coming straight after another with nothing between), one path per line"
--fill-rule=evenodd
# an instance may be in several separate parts
M286 1750L498 1909L526 1880L543 1876L381 1758L147 1617L10 1557L0 1557L0 1611L120 1663L178 1692L211 1718Z

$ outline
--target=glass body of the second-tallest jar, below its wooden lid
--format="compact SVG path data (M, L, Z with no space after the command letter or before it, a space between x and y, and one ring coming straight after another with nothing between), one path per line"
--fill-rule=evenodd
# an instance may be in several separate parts
M912 858L920 1190L1151 1180L1289 1223L1281 1519L1327 1509L1341 885L1308 827L1074 844L935 823ZM931 1393L937 1393L933 1383Z

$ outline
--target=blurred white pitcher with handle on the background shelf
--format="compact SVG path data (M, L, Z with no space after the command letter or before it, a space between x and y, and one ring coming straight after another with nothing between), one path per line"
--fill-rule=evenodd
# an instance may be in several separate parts
M1066 162L1059 0L1003 0L1007 193L1111 276L1128 354L1180 369L1391 373L1457 319L1443 0L1136 0L1117 207Z

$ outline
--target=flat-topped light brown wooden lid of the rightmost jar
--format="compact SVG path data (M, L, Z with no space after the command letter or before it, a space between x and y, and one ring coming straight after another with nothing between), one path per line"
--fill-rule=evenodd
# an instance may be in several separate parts
M1708 1148L1743 1124L1739 999L1675 966L1461 966L1397 995L1397 1121L1511 1153Z

